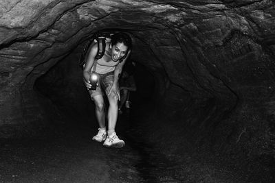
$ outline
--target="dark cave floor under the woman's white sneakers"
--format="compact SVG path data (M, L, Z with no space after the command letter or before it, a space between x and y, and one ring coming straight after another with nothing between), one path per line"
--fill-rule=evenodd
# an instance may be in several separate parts
M242 182L209 157L183 152L177 160L144 141L146 123L139 122L149 114L142 112L120 115L122 149L91 141L97 129L75 124L59 124L55 132L39 136L2 139L0 182Z

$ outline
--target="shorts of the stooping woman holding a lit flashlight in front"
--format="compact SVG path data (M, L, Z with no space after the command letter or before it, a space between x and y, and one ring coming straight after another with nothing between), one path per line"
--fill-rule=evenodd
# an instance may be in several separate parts
M96 95L102 95L102 91L107 95L108 89L113 85L114 80L114 72L111 71L109 73L105 74L99 74L98 75L98 86L96 86L96 90L89 90L89 94L91 95L91 99L93 99Z

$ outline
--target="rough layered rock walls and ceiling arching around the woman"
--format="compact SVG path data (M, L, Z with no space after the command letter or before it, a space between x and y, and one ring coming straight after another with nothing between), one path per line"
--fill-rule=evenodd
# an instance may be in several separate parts
M132 36L132 58L152 73L157 110L177 117L184 125L179 134L192 132L186 133L192 142L207 141L218 154L274 158L272 0L1 1L0 125L47 121L52 103L34 83L64 71L67 81L82 80L77 58L100 29ZM47 80L66 90L56 75ZM72 90L64 95L76 97Z

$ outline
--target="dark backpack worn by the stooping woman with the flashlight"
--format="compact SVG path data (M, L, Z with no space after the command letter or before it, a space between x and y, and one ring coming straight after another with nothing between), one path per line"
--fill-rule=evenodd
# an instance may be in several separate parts
M78 59L78 65L80 66L81 69L84 69L84 66L87 61L87 53L93 47L96 43L98 44L98 53L96 53L95 60L99 60L104 56L105 53L105 47L106 47L106 42L111 41L111 34L110 32L100 32L96 33L89 40L86 42L83 51L80 54L80 57Z

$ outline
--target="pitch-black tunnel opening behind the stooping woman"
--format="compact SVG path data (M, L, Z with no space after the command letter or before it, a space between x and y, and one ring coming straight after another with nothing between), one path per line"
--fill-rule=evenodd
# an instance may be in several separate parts
M110 29L104 29L104 31L110 31ZM63 115L69 115L69 119L74 119L78 121L77 123L81 121L96 123L94 103L83 84L83 70L78 66L82 49L83 45L76 47L72 53L37 78L34 90L50 99ZM136 63L134 77L137 85L137 90L131 94L133 106L153 103L153 95L156 93L153 73L140 63L138 58L131 58L131 60L135 60Z

